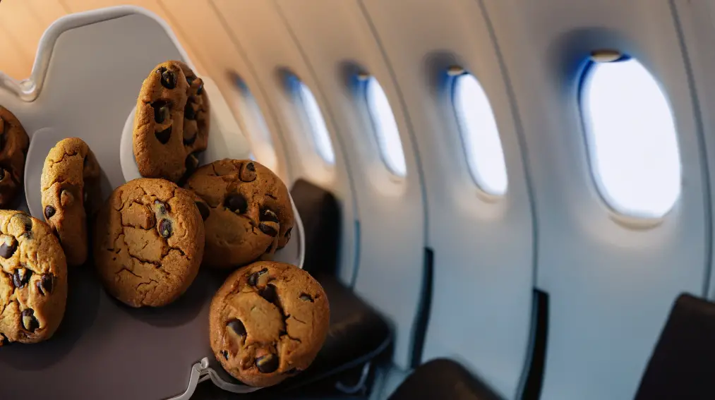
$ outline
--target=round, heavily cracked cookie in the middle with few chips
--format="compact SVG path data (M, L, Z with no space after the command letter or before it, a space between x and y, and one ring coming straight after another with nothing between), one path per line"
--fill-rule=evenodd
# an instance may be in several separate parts
M114 189L95 229L99 279L124 304L164 306L196 278L204 224L194 194L172 182L139 178Z

